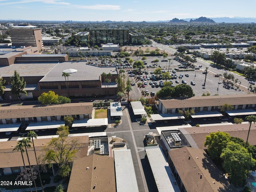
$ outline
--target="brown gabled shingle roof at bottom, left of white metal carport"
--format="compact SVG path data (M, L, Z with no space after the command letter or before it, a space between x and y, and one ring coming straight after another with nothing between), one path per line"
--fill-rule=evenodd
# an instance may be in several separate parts
M114 158L90 155L74 161L67 192L116 191Z

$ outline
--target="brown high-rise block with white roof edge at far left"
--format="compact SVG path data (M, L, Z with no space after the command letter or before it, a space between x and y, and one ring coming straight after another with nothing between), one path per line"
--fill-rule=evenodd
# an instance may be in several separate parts
M36 26L12 26L10 27L12 46L37 47L40 53L43 48L41 28Z

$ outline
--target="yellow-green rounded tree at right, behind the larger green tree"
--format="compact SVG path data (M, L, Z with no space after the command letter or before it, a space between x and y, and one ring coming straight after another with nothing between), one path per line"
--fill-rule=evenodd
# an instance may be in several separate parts
M212 160L219 161L222 150L230 141L230 135L225 132L212 132L206 136L204 146L208 146L207 152Z

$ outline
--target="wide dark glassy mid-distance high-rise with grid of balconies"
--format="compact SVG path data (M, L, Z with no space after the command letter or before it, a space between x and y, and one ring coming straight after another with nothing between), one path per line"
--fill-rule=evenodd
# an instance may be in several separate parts
M119 45L129 44L129 29L113 29L113 28L92 28L90 29L91 46L106 43L114 43Z

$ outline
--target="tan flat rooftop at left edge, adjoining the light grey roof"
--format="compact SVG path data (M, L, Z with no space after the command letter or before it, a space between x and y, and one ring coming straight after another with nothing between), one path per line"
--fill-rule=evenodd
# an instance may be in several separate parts
M21 77L45 76L54 66L56 63L12 64L1 67L0 74L2 77L11 77L16 70Z

